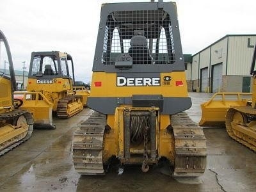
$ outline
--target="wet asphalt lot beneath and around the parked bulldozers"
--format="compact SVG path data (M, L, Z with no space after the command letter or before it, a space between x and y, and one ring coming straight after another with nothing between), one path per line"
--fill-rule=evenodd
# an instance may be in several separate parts
M208 93L189 93L193 105L186 112L200 120L200 103ZM67 120L54 118L57 129L35 129L31 138L0 157L0 191L255 191L256 154L228 137L224 128L204 128L207 169L197 178L173 178L165 166L112 167L104 176L81 176L72 164L72 133L88 118L84 110Z

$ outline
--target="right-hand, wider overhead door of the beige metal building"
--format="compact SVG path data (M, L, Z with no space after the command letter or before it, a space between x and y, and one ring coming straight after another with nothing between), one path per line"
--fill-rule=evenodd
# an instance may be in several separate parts
M212 66L212 93L221 92L222 63Z

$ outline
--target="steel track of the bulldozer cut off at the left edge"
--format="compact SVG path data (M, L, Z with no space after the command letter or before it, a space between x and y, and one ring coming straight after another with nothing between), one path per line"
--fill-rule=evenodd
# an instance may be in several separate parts
M28 132L24 138L21 140L17 141L16 143L13 143L12 145L4 148L3 150L0 151L0 156L3 156L3 154L6 154L6 152L12 150L15 147L18 147L21 143L24 143L24 141L28 140L31 137L31 134L33 132L33 117L31 116L31 113L28 111L23 111L20 109L15 109L13 111L10 111L8 113L2 113L0 115L0 121L3 120L13 120L19 118L19 116L24 115L26 117L27 123L29 125L28 127ZM19 139L20 135L15 136L16 139ZM12 138L13 139L13 138Z

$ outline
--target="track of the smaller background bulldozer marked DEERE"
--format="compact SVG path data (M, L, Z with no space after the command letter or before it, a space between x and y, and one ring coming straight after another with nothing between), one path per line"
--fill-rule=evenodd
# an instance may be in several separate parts
M58 101L57 105L57 115L58 118L70 118L71 116L76 115L80 111L83 110L83 103L81 102L81 106L77 104L77 106L73 107L72 111L68 113L68 104L70 103L79 103L79 99L82 99L80 95L70 95Z

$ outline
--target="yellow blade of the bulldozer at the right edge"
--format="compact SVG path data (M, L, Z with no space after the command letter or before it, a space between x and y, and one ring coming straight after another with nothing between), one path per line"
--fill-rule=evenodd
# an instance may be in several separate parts
M250 105L252 93L215 93L210 100L201 104L202 117L199 122L204 127L225 127L225 117L230 106Z

